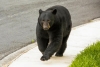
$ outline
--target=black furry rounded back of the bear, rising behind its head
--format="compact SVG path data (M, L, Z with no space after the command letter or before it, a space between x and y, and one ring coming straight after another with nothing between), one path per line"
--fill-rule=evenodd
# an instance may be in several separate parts
M69 13L68 9L63 7L63 6L56 5L56 6L48 8L46 11L54 10L54 9L57 10L56 17L61 19L61 21L66 22L66 21L70 21L71 20L71 16L70 16L70 13Z

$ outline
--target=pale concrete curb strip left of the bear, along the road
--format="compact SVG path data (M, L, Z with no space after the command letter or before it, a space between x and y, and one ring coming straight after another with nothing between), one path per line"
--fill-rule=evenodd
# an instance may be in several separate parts
M36 47L36 43L30 44L26 47L23 47L20 50L17 50L4 59L0 60L0 67L8 67L12 62L14 62L18 57L20 57L22 54L28 52L30 49Z

